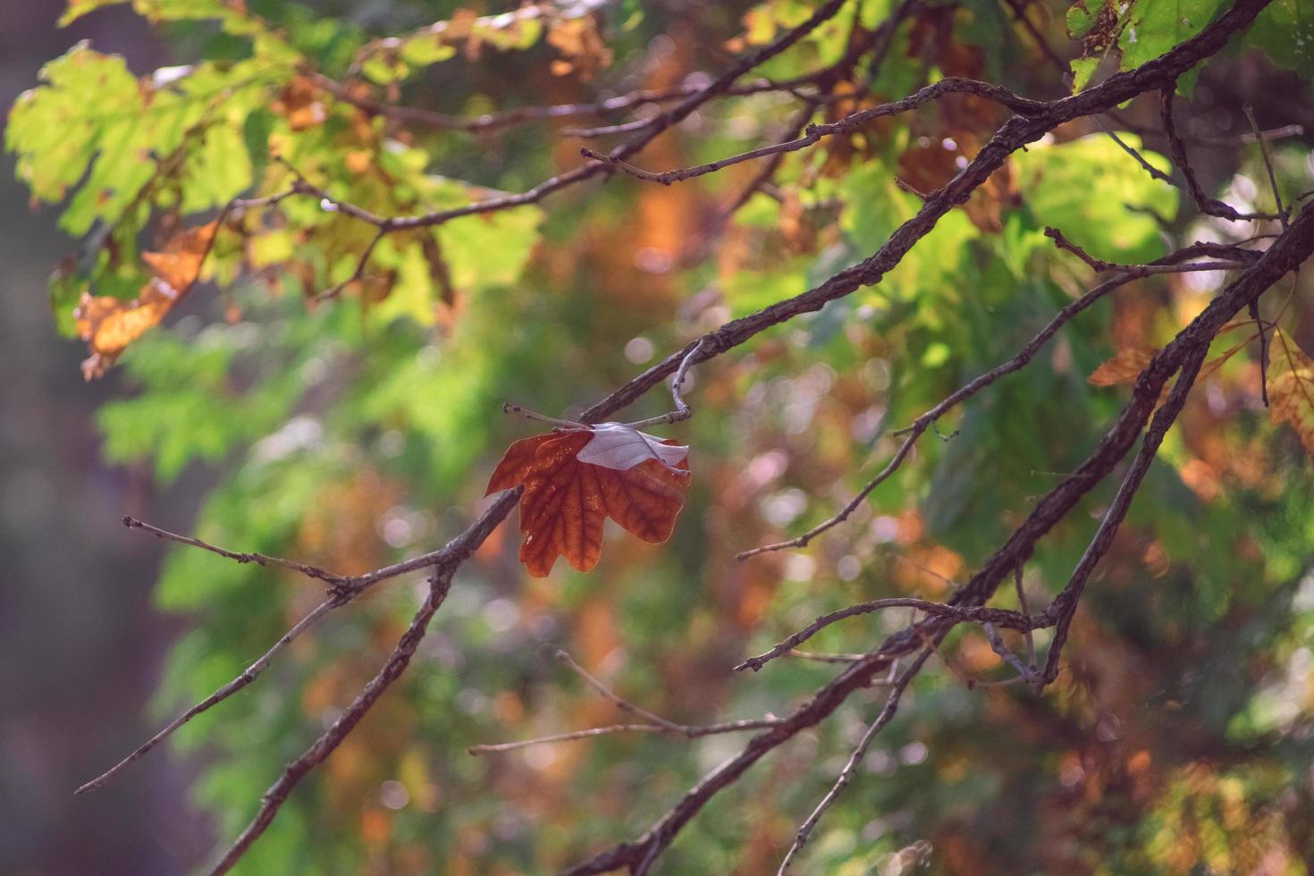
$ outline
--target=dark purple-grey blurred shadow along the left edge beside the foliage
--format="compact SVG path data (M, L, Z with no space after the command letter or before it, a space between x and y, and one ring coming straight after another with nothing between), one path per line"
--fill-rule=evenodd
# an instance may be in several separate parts
M170 63L129 9L59 30L62 8L0 0L5 114L79 39L138 72ZM147 703L181 626L150 603L162 546L120 517L181 525L200 485L184 481L162 504L147 478L100 462L93 412L122 389L114 376L84 383L81 344L55 335L46 277L75 242L55 229L57 210L29 208L13 169L0 155L0 872L184 872L210 833L173 754L152 753L96 793L72 791L156 729Z

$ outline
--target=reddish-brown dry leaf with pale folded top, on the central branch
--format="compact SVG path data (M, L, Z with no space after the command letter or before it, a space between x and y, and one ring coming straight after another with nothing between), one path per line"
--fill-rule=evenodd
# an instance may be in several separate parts
M579 571L597 566L607 517L644 541L670 538L689 479L687 447L602 423L516 441L485 495L524 487L520 562L543 578L558 556Z

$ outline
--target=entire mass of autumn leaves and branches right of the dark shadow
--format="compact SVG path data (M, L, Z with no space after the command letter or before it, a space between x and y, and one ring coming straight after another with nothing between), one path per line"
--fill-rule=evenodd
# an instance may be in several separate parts
M326 5L5 138L226 860L1305 872L1309 0Z

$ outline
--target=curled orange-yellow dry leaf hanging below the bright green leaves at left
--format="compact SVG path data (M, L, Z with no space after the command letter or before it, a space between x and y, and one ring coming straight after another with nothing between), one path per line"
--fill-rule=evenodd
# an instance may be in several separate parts
M83 377L101 377L130 343L183 299L201 273L214 229L215 223L208 222L173 235L159 252L143 252L142 260L155 276L133 301L83 293L74 310L78 336L91 351L81 364Z

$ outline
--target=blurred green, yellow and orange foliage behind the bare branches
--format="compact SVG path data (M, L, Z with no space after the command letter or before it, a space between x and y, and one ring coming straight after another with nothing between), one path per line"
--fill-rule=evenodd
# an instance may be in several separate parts
M41 45L24 47L21 85L35 87L17 97L5 142L33 206L62 205L59 230L79 243L58 240L46 208L39 234L21 232L32 243L5 255L21 267L5 313L26 320L20 332L7 317L5 332L26 345L4 355L29 378L0 398L5 440L29 457L7 454L4 538L18 561L0 604L30 628L14 625L18 658L3 678L14 708L30 712L0 718L4 869L162 872L204 860L374 672L423 590L420 579L394 582L298 640L256 684L185 728L172 754L134 767L160 787L138 775L87 802L29 806L131 747L142 730L133 711L154 684L147 641L184 630L151 705L159 722L240 672L322 598L313 582L173 548L154 607L125 609L116 594L139 594L163 548L113 531L118 514L148 512L235 550L342 574L432 549L481 507L502 449L531 431L501 414L503 399L569 416L698 332L870 255L916 211L915 192L950 179L1005 114L950 97L829 138L788 155L729 221L723 211L759 165L670 188L591 181L539 205L389 235L359 277L368 225L314 198L252 208L225 217L206 282L127 345L108 389L79 386L74 345L54 339L55 328L76 331L81 296L137 297L151 273L142 252L233 197L288 189L289 168L381 215L424 213L574 167L579 141L562 129L595 123L445 130L380 104L476 118L699 85L813 5L629 0L480 18L511 7L72 0L59 32L47 20L57 11L29 13ZM845 96L816 118L947 75L1051 99L1070 88L1068 62L1077 87L1097 81L1198 32L1226 4L1141 0L1113 28L1088 5L918 4L874 75L853 71L836 87ZM788 80L832 64L890 13L884 0L850 3L758 72ZM35 62L83 35L89 42L49 60L37 85ZM1242 211L1275 208L1259 147L1244 142L1246 104L1261 127L1306 131L1271 144L1285 201L1314 186L1311 51L1309 11L1276 0L1244 41L1181 83L1193 164ZM5 76L14 87L20 74ZM788 92L714 101L636 162L664 169L756 147L783 137L796 106ZM1134 101L1106 123L1171 169L1156 101ZM7 211L11 229L17 210ZM669 544L612 533L593 574L562 563L536 580L515 561L514 529L494 533L461 569L409 674L297 789L240 872L560 868L646 827L741 741L614 735L468 755L469 745L615 720L555 649L677 721L781 714L834 667L779 661L736 675L744 655L854 602L947 596L1120 410L1125 389L1092 386L1092 370L1117 349L1171 339L1221 276L1125 286L1031 366L946 418L946 440L924 440L851 523L803 552L748 562L735 553L829 516L888 458L894 429L1012 356L1093 284L1045 238L1047 225L1122 263L1272 231L1201 218L1092 120L1014 155L879 286L696 369L698 414L670 429L692 445L695 479ZM60 248L71 255L50 284L53 318L33 326L34 265ZM1305 272L1265 301L1265 315L1306 351L1311 298ZM1248 334L1238 328L1219 351ZM1003 679L1007 667L975 629L946 642L823 821L805 872L1307 872L1314 482L1300 440L1271 426L1259 391L1256 344L1201 381L1043 697L968 690L964 679ZM37 403L49 414L32 422ZM653 393L633 416L666 405ZM88 458L91 406L110 468ZM58 433L83 437L45 444ZM105 483L70 479L55 458ZM32 483L57 469L55 485ZM63 502L29 498L50 494ZM1033 607L1067 580L1110 496L1105 485L1042 542L1026 570ZM1016 605L1012 595L1000 602ZM0 624L13 623L4 615ZM855 619L815 646L861 651L904 623ZM101 651L101 638L137 640L146 653ZM878 696L853 697L720 795L664 872L774 872ZM32 768L34 751L74 750L79 775ZM176 802L184 781L194 812Z

